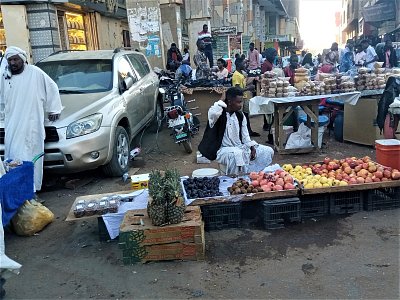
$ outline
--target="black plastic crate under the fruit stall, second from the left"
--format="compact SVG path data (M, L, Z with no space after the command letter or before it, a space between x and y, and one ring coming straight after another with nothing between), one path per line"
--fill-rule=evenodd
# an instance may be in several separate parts
M300 199L276 199L262 202L265 229L285 227L285 222L300 222Z

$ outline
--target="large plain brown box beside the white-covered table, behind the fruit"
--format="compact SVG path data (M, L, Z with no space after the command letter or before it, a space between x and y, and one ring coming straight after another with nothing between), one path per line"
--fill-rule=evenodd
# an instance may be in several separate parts
M378 101L378 97L361 97L356 105L345 103L343 140L373 146L384 138L376 123Z

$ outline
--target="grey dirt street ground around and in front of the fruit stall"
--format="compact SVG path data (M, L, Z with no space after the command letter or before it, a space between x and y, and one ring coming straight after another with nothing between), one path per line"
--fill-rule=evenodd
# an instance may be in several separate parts
M262 132L262 117L252 118ZM204 128L204 127L203 127ZM201 135L194 139L196 148ZM158 138L145 133L140 159L132 162L138 173L152 168L177 167L190 175L201 167L195 153L173 144L168 130ZM325 156L369 155L371 147L338 143L325 135L319 153L275 155L274 162L301 163ZM133 169L132 169L133 170ZM91 178L75 190L63 183ZM121 178L105 178L90 171L60 178L47 176L44 199L56 220L38 235L6 233L7 254L23 265L10 278L6 298L370 298L399 299L399 212L360 212L293 224L266 231L251 219L239 229L206 232L206 260L157 262L124 266L115 241L99 242L97 220L65 222L77 196L128 190Z

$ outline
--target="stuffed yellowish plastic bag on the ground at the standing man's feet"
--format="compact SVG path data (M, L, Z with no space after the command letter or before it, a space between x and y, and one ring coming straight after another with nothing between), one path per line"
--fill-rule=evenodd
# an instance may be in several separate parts
M54 214L35 200L25 201L12 218L15 233L30 236L54 221Z

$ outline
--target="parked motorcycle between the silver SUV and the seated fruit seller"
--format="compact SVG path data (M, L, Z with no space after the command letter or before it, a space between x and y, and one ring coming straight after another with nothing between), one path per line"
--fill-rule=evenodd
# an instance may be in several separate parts
M180 86L180 80L173 80L173 84L165 89L165 102L169 103L170 106L165 107L164 112L175 143L182 144L187 153L192 153L191 139L199 132L200 120L197 116L200 114L193 115L190 112L198 109L198 107L187 108L187 103L196 100L185 101Z

